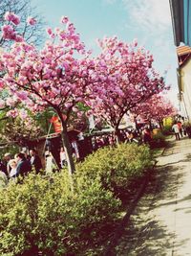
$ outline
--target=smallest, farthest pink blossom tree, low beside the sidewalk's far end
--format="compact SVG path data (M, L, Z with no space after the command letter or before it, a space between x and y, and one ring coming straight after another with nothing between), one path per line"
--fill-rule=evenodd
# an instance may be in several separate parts
M177 115L178 109L164 96L154 95L148 101L137 105L131 112L134 116L139 115L148 121L156 121L162 128L163 119Z

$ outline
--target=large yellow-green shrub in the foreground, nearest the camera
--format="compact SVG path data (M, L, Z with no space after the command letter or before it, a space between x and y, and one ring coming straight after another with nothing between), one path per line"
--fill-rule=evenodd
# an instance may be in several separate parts
M98 179L85 189L65 174L29 175L0 194L0 254L79 255L117 220L119 200Z

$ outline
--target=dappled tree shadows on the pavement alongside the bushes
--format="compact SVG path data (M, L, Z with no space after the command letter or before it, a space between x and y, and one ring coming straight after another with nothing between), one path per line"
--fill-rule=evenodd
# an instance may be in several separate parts
M191 154L186 155L188 161ZM114 248L117 256L165 256L172 255L175 233L160 221L155 220L157 208L176 205L177 192L183 182L183 165L159 167L150 179L143 198L126 227L118 245ZM190 200L191 195L180 200ZM154 210L154 212L153 212ZM181 246L184 240L176 246Z

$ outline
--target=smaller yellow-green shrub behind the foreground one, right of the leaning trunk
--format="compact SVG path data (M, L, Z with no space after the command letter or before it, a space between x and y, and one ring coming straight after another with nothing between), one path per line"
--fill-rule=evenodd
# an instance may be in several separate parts
M103 187L116 192L127 187L132 179L143 175L151 164L152 155L147 146L120 144L116 148L106 147L89 155L77 165L76 179L85 179L90 183L99 177Z

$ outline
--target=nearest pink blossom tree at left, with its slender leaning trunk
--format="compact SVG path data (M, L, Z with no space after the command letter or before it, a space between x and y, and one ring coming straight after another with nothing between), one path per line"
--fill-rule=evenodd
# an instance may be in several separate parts
M7 19L18 19L13 16ZM30 17L29 24L35 24ZM14 22L14 24L16 25ZM17 101L33 112L52 107L62 124L62 141L67 155L70 174L74 172L74 160L67 136L67 125L77 105L83 103L86 87L91 83L94 65L89 54L75 33L74 24L67 17L61 19L62 27L49 28L50 37L42 50L18 39L9 25L2 29L3 36L15 40L10 51L3 51L0 57L0 87L9 89ZM78 111L78 114L79 111Z

